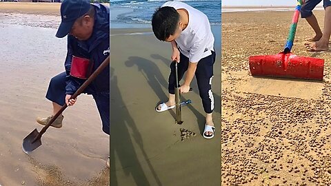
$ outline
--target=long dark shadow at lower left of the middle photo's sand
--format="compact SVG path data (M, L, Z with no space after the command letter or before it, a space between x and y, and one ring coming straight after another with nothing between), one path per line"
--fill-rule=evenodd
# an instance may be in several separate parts
M121 96L117 76L114 76L114 68L110 68L110 74L110 125L113 131L110 136L110 185L119 185L116 167L121 167L119 170L123 171L126 176L131 175L136 185L150 185L137 158L137 153L134 151L132 136L134 143L139 145L139 150L143 154L143 161L148 164L154 180L157 181L157 185L161 185L159 177L148 160L141 134L125 106L126 102ZM115 166L115 156L119 158L120 166Z

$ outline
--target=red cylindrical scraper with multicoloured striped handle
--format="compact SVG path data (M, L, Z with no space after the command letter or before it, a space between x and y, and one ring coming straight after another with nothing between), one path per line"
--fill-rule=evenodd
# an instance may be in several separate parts
M291 53L302 3L302 0L298 0L283 52L276 55L250 56L252 76L323 80L324 59L297 56Z

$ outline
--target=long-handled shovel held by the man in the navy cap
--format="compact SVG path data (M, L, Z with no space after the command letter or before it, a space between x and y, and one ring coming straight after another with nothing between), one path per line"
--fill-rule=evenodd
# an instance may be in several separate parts
M79 94L81 94L81 92L83 92L83 90L85 90L85 88L88 85L90 85L90 83L100 74L100 72L102 72L102 70L109 65L109 63L110 63L110 59L108 56L105 59L105 61L103 61L103 63L101 63L99 68L97 68L97 70L95 70L91 74L91 76L83 83L83 85L81 85L81 87L79 87L79 89L71 96L70 99L76 99L77 96L79 96ZM63 110L66 109L66 107L68 107L68 106L66 104L64 104L61 107L61 110L59 110L59 112L57 112L57 114L55 114L52 117L52 119L47 123L47 125L45 127L43 127L43 129L40 132L38 132L37 129L34 129L28 136L26 136L26 138L23 139L23 145L22 145L23 152L28 154L29 152L32 152L34 149L37 149L37 147L39 147L41 145L41 136L43 135L43 133L46 132L48 127L50 127L50 125L52 125L52 123L63 112Z

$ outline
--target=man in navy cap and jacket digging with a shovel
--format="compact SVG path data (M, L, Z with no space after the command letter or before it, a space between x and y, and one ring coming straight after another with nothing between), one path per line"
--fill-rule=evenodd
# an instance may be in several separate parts
M86 81L89 74L110 55L109 8L88 0L64 0L61 3L61 24L56 37L68 35L68 51L64 63L66 72L50 80L46 98L52 101L54 116L64 104L74 105L72 94ZM102 130L110 134L110 68L105 68L84 93L92 94L102 121ZM52 118L37 118L46 125ZM61 128L63 115L52 127ZM109 157L107 161L109 167Z

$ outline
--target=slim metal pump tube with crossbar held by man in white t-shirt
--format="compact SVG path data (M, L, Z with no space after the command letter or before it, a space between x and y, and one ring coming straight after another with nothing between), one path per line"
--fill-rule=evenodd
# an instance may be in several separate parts
M174 100L176 103L176 123L181 125L183 121L181 121L181 106L187 105L191 103L191 100L183 101L181 103L181 85L179 85L179 79L178 79L178 70L177 70L177 61L172 61L172 63L175 63L175 70L176 70L176 84L174 85ZM192 90L192 87L190 87L190 91Z

